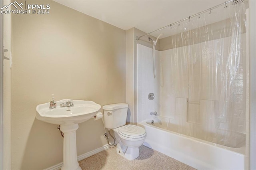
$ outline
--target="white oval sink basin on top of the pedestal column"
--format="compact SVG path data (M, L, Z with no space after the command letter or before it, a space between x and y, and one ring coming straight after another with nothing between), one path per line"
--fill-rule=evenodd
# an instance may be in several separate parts
M36 107L36 119L56 125L72 125L82 123L94 117L101 106L93 101L73 100L73 107L60 107L60 100L57 107L50 109L50 103L44 103ZM65 99L65 101L70 101Z

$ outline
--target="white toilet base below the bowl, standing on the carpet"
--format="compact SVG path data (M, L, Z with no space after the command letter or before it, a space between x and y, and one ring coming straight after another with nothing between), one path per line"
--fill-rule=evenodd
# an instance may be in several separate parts
M122 150L120 145L117 144L116 152L128 160L134 160L140 156L140 151L138 147L137 148L127 147L125 150Z

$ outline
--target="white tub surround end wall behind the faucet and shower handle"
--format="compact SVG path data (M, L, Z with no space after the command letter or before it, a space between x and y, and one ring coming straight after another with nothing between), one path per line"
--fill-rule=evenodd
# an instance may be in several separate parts
M156 78L153 72L152 48L137 44L138 63L138 122L153 118L150 112L159 113L160 101L160 51L155 50ZM148 99L148 94L154 93L154 100Z

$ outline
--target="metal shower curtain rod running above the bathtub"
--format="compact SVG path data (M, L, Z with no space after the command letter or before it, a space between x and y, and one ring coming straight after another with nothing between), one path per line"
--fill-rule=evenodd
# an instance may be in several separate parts
M193 17L195 17L195 16L200 16L200 14L203 14L203 13L205 13L205 12L207 12L207 11L210 11L210 14L211 14L211 13L212 13L212 10L214 10L215 8L218 8L218 7L222 6L222 5L225 5L224 8L226 8L226 7L227 7L226 4L228 4L228 3L230 3L230 2L233 2L233 3L232 3L232 5L233 5L233 4L237 4L238 2L243 2L243 1L244 1L244 0L229 0L229 1L226 1L226 2L224 2L224 3L222 3L222 4L216 5L216 6L212 7L212 8L209 8L209 9L204 10L204 11L202 11L202 12L198 12L198 13L192 15L192 16L189 16L189 17L187 17L187 18L184 18L184 19L182 19L182 20L179 20L179 21L177 21L177 22L174 22L174 23L172 23L172 24L169 24L168 26L162 27L162 28L160 28L160 29L158 29L158 30L154 30L154 31L152 31L152 32L150 32L150 33L148 33L148 34L143 35L143 36L136 36L136 40L140 40L140 38L142 38L142 37L144 37L144 36L148 36L149 34L152 34L153 32L163 30L164 28L171 27L171 26L173 26L173 25L175 25L175 24L179 24L180 22L182 22L182 21L184 21L184 20L188 20L188 19L190 20L191 18L193 18Z

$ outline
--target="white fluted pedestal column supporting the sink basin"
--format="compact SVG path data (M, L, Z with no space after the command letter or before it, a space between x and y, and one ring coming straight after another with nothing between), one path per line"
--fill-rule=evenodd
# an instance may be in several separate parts
M63 139L63 166L62 170L82 170L77 162L76 155L76 130L78 124L60 125L64 134Z

